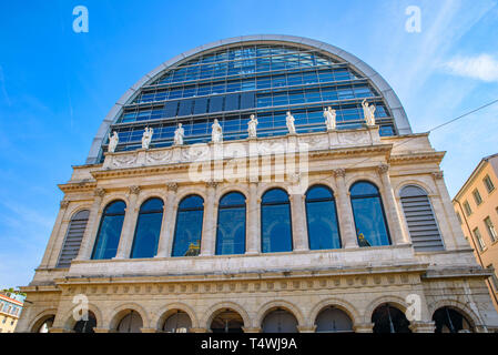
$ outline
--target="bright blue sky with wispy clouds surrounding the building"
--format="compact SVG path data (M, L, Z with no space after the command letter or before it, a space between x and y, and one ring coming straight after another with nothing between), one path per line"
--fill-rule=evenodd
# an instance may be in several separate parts
M74 33L72 10L89 10ZM408 6L421 32L405 30ZM3 1L0 11L0 287L27 285L59 201L115 101L160 63L243 34L308 37L378 71L414 132L498 99L498 6L438 1ZM496 153L498 104L430 134L450 195Z

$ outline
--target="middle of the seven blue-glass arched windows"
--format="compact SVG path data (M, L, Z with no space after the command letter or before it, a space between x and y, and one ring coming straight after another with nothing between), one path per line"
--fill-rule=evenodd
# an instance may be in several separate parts
M216 255L245 253L245 196L240 192L225 194L218 204Z

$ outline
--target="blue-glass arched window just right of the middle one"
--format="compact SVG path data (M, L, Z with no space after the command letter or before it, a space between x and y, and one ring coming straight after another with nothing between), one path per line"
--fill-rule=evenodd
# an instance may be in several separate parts
M263 253L291 252L292 222L287 193L267 191L261 202L261 248Z

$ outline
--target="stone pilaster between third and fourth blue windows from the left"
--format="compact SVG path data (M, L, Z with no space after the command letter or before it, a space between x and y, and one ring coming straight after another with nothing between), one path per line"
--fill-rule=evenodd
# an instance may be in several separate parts
M202 227L201 256L214 255L216 247L216 206L215 199L217 182L206 183L207 193L204 202L204 225Z

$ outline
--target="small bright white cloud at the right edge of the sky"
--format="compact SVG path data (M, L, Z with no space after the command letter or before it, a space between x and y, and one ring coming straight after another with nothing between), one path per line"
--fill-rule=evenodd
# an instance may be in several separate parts
M498 59L489 54L456 57L447 61L444 68L455 75L498 82Z

